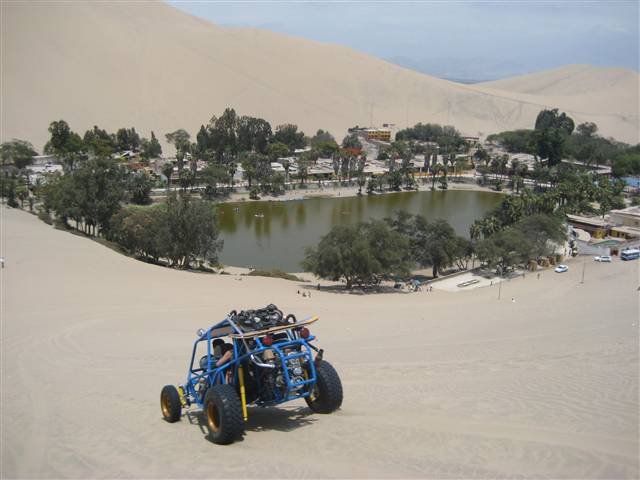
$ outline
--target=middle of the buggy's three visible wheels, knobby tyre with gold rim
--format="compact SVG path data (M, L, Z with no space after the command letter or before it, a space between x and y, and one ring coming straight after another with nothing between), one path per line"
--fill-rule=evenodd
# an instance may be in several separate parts
M228 445L244 431L242 404L231 385L214 385L207 390L203 413L213 443Z

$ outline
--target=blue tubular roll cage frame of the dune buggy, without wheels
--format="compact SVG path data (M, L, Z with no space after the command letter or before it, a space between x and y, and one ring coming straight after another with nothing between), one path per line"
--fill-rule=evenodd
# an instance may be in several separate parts
M259 394L257 398L249 403L255 403L259 406L275 405L296 398L305 398L310 395L311 388L316 382L316 368L313 360L312 350L319 352L321 358L321 350L309 342L315 340L315 336L308 335L302 338L300 332L303 327L310 325L318 320L317 316L309 317L297 323L280 325L276 327L244 331L237 322L233 320L232 315L228 315L221 322L213 325L206 331L199 331L199 337L193 344L191 353L191 362L187 372L187 382L181 385L180 395L183 403L195 403L199 407L203 406L204 391L206 388L216 384L230 384L241 390L244 402L244 375L243 367L247 370L252 369L258 372L259 369L276 369L274 363L265 363L260 360L259 356L266 350L272 350L274 358L279 359L281 366L288 365L288 362L295 359L304 360L308 365L303 380L294 380L289 374L288 368L280 367L284 379L284 391L276 391L274 398L262 398ZM279 338L272 344L265 344L266 336L277 335ZM219 367L215 365L215 357L211 348L211 342L216 338L228 337L232 341L233 357L232 359ZM273 338L273 337L272 337ZM196 353L201 342L206 342L207 348L207 364L206 368L200 365L196 360ZM231 372L230 375L227 372ZM260 375L252 376L257 382L256 392L261 391ZM305 388L306 387L306 388Z

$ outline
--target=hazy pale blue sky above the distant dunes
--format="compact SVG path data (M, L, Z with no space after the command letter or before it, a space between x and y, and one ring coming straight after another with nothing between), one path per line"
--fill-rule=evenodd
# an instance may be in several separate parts
M176 1L228 27L335 43L425 73L489 80L573 63L638 71L640 1Z

